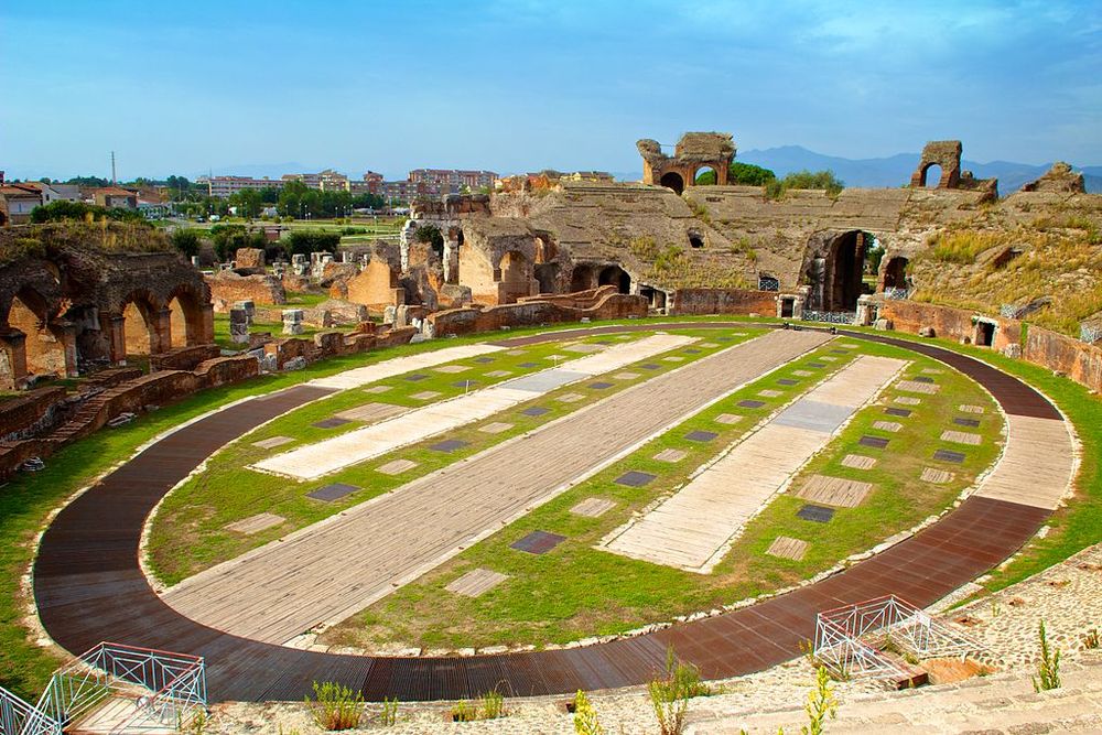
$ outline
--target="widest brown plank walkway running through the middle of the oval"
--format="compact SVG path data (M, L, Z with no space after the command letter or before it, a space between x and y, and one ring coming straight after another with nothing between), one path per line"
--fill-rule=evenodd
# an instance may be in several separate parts
M206 570L169 590L164 599L212 628L270 642L337 623L824 339L814 332L774 332L659 375Z

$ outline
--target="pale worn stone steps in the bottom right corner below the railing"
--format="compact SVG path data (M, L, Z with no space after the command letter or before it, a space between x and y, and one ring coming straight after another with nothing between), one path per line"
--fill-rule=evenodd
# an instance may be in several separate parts
M828 733L1102 733L1102 652L1078 652L1065 663L1063 687L1036 693L1033 669L970 679L955 684L890 693L857 694L841 702ZM722 699L722 698L719 698ZM799 733L807 724L802 702L771 711L724 711L695 700L687 733L736 735Z

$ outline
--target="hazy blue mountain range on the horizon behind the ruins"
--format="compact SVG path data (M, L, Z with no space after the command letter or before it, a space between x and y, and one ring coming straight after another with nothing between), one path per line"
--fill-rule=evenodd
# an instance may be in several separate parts
M830 169L845 182L846 186L896 187L910 181L918 158L918 153L897 153L883 159L844 159L815 153L800 145L782 145L763 151L739 151L735 160L771 169L778 176L803 169L809 171ZM1002 195L1013 194L1022 188L1023 184L1036 180L1052 167L1051 163L1042 165L1012 161L979 163L966 159L961 165L975 174L976 179L997 179L998 192ZM1085 177L1087 191L1102 194L1102 166L1083 166L1080 170Z

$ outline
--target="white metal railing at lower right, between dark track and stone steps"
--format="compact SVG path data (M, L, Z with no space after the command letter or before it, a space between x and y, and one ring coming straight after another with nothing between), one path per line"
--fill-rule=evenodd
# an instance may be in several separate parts
M983 646L895 595L815 616L815 659L834 675L906 677L885 653L893 646L923 659L966 656Z

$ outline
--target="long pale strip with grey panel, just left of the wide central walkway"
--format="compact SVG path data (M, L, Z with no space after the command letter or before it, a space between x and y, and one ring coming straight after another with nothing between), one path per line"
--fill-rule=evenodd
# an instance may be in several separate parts
M557 368L407 411L370 426L266 457L252 467L295 479L316 479L430 436L474 421L482 421L514 406L539 398L542 393L560 386L608 370L618 370L640 359L693 342L695 339L692 337L682 335L658 334L628 344L615 345L601 354L563 363ZM583 397L579 396L577 400Z

